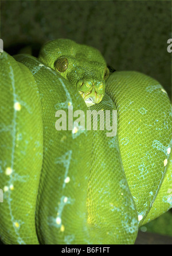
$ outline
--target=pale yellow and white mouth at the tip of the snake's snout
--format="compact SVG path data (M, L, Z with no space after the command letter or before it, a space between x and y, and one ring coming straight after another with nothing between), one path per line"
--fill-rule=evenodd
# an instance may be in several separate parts
M86 93L84 93L83 91L80 91L79 93L83 97L87 107L91 107L95 104L99 104L104 96L103 94L98 94L95 90L92 90Z

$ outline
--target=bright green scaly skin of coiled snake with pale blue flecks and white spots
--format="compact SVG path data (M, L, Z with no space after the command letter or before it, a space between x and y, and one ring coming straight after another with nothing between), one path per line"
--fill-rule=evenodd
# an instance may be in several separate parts
M64 77L52 70L58 48L71 67ZM83 61L81 52L87 50ZM57 110L68 114L72 105L86 114L78 80L99 81L104 90L103 57L64 39L43 46L39 60L15 59L6 52L0 56L1 239L6 244L134 243L138 224L172 206L172 110L166 92L144 74L115 72L91 110L117 109L118 134L57 131ZM102 88L97 92L101 95Z

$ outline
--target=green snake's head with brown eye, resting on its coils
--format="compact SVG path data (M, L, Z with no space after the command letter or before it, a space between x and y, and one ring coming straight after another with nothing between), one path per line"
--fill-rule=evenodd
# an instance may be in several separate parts
M65 77L88 107L103 99L110 71L96 48L69 39L57 39L42 47L39 59Z

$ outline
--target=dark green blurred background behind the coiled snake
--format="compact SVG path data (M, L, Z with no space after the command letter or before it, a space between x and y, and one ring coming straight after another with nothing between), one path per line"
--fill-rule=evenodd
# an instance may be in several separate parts
M56 38L98 48L116 70L154 77L171 98L171 1L1 1L1 39L11 55L30 46L37 56ZM171 212L142 231L172 235Z

